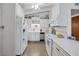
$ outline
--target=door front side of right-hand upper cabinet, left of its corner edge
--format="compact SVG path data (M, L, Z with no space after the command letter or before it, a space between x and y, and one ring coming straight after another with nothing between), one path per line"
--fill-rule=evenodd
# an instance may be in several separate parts
M60 13L60 5L59 4L54 4L50 10L50 15L49 15L49 23L51 26L56 26L58 25L57 17L59 16Z

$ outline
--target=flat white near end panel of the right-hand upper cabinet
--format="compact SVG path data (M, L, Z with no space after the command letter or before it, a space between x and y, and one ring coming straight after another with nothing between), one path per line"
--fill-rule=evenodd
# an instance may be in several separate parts
M66 5L60 4L60 14L59 14L59 17L57 18L58 25L60 25L60 26L67 26L67 24L68 24L67 19L68 19L69 15L67 15L67 12L69 10L67 10L66 7L67 7Z

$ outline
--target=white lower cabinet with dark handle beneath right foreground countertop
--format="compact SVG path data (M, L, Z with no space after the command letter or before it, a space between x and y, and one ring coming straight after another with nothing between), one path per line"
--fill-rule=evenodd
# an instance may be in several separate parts
M70 56L65 50L63 50L59 45L53 42L52 56Z

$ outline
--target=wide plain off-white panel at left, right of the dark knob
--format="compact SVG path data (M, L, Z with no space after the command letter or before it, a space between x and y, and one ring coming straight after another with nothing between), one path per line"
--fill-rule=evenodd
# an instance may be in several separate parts
M15 4L3 3L3 55L15 55Z

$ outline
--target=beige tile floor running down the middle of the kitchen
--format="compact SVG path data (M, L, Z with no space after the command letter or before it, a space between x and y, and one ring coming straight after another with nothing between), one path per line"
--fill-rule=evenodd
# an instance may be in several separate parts
M44 42L29 42L23 56L47 56Z

